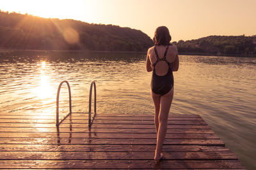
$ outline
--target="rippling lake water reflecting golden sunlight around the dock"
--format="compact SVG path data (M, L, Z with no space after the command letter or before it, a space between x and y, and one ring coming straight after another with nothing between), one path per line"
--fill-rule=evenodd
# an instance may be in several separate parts
M170 113L199 114L248 169L256 169L256 58L180 55ZM0 52L0 114L55 115L67 80L72 110L88 112L96 80L97 113L154 114L145 53ZM68 113L67 87L60 114Z

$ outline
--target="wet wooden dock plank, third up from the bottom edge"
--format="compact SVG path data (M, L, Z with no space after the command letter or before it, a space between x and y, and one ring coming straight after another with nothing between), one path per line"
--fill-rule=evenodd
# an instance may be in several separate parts
M0 153L8 152L147 152L156 149L156 145L0 145ZM223 146L200 145L163 145L163 152L223 152L229 151Z

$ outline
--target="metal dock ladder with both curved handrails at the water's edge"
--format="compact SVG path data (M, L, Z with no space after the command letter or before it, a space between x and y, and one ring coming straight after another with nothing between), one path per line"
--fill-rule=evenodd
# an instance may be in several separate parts
M68 94L69 94L69 113L62 119L59 120L59 97L60 97L60 89L61 85L63 83L67 83L68 86ZM94 87L94 115L93 118L91 119L92 115L92 87ZM72 112L72 107L71 107L71 90L70 90L70 85L68 81L62 81L58 87L58 92L57 92L57 98L56 98L56 126L59 127L59 125L71 114L75 113ZM90 87L90 96L89 96L89 113L88 113L88 126L91 127L92 122L95 118L96 115L96 84L95 81L92 81L91 87Z

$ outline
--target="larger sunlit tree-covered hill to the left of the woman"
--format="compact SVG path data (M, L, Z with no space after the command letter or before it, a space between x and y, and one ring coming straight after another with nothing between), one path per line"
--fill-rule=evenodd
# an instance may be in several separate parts
M0 11L0 49L146 52L152 45L129 27Z

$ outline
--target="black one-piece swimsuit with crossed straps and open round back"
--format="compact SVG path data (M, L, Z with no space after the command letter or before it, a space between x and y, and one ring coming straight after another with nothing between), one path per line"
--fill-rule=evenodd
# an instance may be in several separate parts
M151 78L151 90L155 94L160 94L161 96L170 92L170 90L173 87L173 73L172 73L172 68L171 68L173 62L168 62L166 60L166 54L168 52L168 48L169 48L169 46L166 46L166 50L164 52L163 59L159 59L159 56L158 56L158 53L156 50L156 46L154 47L154 50L156 52L157 61L153 64L154 69L153 69L152 78ZM158 76L155 71L155 66L156 66L157 62L159 62L161 60L164 60L169 66L168 72L164 76Z

